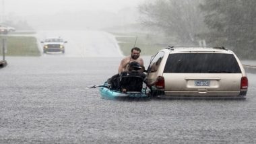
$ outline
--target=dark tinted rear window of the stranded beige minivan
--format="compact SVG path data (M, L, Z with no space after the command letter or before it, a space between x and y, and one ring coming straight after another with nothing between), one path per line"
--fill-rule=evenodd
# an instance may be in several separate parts
M241 73L232 54L178 53L170 54L164 73Z

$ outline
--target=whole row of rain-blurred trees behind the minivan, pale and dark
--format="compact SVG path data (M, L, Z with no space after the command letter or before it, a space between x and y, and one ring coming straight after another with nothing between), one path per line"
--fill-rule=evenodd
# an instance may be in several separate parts
M141 24L174 36L177 44L226 46L256 59L256 1L150 0L139 5Z

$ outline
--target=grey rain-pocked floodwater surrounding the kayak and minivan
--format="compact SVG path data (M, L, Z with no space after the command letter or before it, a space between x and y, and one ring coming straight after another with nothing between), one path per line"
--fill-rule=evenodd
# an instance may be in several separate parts
M6 59L0 143L256 143L255 74L247 100L112 101L86 87L114 75L121 57Z

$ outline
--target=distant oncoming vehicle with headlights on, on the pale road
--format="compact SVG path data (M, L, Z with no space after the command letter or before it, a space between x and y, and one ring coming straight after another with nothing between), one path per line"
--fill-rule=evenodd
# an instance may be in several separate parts
M65 46L64 44L67 43L67 41L64 41L63 38L60 37L51 37L51 38L45 38L44 41L41 43L44 44L43 46L43 52L62 52L65 53Z

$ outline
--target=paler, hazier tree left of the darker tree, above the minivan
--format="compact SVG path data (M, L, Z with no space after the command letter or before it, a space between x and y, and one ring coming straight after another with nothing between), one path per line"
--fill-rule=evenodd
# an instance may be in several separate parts
M175 36L179 43L195 44L196 35L205 29L198 5L201 0L156 0L139 5L141 24Z

